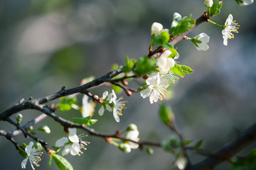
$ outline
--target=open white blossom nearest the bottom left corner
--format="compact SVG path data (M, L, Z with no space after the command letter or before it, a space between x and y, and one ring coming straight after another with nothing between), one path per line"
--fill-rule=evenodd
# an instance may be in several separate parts
M26 169L26 163L28 162L28 159L29 159L29 162L31 163L32 169L35 169L33 167L33 164L35 166L39 166L38 162L41 161L40 156L43 154L43 152L40 152L40 151L38 151L38 149L33 147L33 142L29 142L29 145L26 146L26 148L25 148L25 152L28 157L21 162L21 168Z

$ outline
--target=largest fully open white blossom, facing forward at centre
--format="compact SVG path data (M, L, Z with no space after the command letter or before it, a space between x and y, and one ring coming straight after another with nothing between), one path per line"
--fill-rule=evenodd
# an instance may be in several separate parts
M169 82L160 77L159 73L151 74L148 79L146 79L146 84L149 85L147 89L140 92L142 98L149 96L150 103L154 103L159 99L162 100L165 96L166 88L169 86Z

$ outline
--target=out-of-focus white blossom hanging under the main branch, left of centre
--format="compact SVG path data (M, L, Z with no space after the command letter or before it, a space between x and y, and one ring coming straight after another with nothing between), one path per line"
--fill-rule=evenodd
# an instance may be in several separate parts
M84 95L82 97L82 118L86 118L89 115L92 117L94 111L95 103L93 101L89 101L89 97Z

